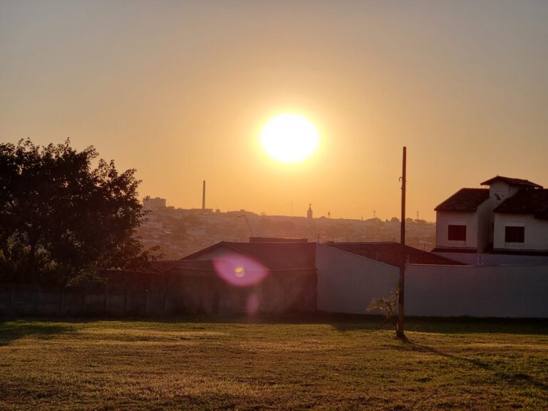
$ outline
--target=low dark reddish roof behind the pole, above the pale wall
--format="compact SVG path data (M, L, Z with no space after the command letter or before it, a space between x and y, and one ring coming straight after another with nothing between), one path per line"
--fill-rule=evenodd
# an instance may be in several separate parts
M377 260L393 267L399 268L402 265L402 245L400 243L326 243L326 245L371 260ZM405 245L405 254L407 262L411 264L465 265L409 245Z

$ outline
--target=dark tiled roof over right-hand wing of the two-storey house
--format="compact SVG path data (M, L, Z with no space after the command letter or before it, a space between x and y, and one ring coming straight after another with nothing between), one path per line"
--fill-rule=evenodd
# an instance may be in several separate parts
M534 214L535 218L548 220L548 189L522 188L493 211L494 213Z

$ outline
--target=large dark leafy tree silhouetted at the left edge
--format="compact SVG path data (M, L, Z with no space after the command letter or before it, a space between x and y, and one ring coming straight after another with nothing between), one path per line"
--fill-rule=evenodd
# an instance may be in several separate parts
M135 236L146 215L135 170L118 173L97 156L69 140L0 144L2 280L65 285L97 268L148 260Z

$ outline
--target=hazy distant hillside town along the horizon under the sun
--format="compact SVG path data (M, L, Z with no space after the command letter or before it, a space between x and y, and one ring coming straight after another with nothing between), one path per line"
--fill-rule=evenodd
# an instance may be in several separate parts
M247 242L251 236L307 238L309 242L400 241L400 220L315 218L312 205L303 215L266 215L248 210L166 206L165 198L148 198L148 220L138 229L146 248L158 246L162 258L175 260L220 241ZM305 216L306 215L306 216ZM435 246L435 223L407 218L406 243L420 250Z

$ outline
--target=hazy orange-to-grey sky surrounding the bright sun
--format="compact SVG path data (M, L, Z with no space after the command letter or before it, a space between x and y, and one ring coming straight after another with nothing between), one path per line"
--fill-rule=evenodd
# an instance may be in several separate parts
M95 146L176 207L380 218L548 186L548 1L0 0L0 136ZM320 150L275 163L298 112Z

